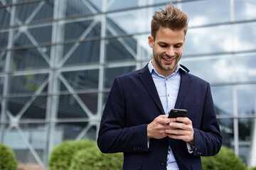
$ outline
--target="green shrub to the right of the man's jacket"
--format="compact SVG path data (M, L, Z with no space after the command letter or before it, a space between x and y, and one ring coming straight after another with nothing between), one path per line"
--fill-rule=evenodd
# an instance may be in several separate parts
M220 152L213 157L201 157L203 170L243 170L246 165L235 155L233 149L221 147Z

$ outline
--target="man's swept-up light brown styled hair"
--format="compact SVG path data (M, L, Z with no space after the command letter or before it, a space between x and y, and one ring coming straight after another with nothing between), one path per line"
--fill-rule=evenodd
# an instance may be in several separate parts
M156 38L156 33L160 28L170 28L171 30L188 30L188 16L186 13L176 8L172 3L166 5L166 9L156 11L151 21L151 36Z

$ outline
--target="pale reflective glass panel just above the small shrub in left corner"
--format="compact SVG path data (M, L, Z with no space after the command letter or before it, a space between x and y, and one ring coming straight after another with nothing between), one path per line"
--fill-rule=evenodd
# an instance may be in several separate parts
M6 125L6 129L11 125ZM38 164L35 157L42 161L46 150L46 131L44 124L19 124L17 128L4 130L4 144L13 149L18 162Z

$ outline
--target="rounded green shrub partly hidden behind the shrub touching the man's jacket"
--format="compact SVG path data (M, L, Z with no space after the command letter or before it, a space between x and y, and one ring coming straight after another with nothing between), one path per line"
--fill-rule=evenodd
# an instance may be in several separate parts
M48 161L51 170L68 170L74 154L81 149L96 147L93 140L64 141L53 148Z

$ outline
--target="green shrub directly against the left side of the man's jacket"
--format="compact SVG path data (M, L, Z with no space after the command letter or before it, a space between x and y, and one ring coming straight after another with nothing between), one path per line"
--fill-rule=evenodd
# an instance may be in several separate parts
M122 169L122 163L122 153L102 154L98 147L91 147L74 155L69 170L119 170Z

